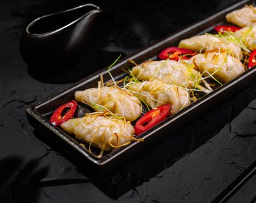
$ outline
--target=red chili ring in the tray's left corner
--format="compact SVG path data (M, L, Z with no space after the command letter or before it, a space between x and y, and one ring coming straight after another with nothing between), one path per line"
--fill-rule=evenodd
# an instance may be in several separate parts
M53 112L50 122L55 126L59 126L63 122L66 122L67 120L72 118L73 114L75 114L76 108L77 103L75 100L69 101L67 102L67 104L63 104L63 106L60 106L59 108L57 108L57 110L55 110L55 112ZM66 109L69 109L69 111L62 116L63 111Z

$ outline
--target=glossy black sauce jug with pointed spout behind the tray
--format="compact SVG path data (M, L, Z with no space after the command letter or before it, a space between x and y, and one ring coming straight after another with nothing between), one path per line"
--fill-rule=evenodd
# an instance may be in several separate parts
M34 19L20 39L20 52L33 67L71 66L83 55L92 41L102 10L85 4Z

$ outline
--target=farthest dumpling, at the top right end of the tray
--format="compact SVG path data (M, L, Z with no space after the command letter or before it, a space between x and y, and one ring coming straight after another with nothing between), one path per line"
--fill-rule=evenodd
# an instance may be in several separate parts
M246 5L226 15L226 21L241 28L256 25L256 8L253 5Z

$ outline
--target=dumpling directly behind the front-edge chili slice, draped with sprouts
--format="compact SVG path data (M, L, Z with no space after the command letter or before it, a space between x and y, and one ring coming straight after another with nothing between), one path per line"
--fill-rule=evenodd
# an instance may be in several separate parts
M164 104L170 104L172 114L191 104L189 93L185 89L175 85L168 85L161 81L131 83L128 89L145 101L152 109Z

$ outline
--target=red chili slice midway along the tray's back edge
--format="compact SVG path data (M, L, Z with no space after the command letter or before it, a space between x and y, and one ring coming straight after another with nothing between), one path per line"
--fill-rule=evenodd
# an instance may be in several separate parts
M160 58L162 60L166 60L169 58L170 60L178 61L180 58L181 59L189 59L193 55L195 55L195 52L193 52L191 50L171 46L171 47L168 47L168 48L162 50L162 52L160 52L160 54L158 54L158 58Z

